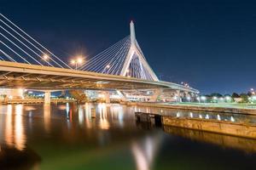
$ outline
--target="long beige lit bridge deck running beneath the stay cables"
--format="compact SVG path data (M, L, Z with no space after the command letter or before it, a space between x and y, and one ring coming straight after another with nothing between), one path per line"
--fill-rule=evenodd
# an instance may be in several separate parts
M41 65L28 65L0 61L1 88L30 89L148 89L172 88L198 93L172 82L155 82L132 77L101 74L90 71L75 71Z

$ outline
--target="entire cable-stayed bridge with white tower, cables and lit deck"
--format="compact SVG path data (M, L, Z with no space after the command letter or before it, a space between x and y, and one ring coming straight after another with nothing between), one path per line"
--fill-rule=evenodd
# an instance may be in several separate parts
M89 59L76 71L3 14L0 16L2 88L45 91L97 89L122 92L153 89L154 99L160 95L162 89L174 91L176 97L180 96L180 92L190 95L198 93L194 88L163 82L156 77L137 43L132 22L131 36Z

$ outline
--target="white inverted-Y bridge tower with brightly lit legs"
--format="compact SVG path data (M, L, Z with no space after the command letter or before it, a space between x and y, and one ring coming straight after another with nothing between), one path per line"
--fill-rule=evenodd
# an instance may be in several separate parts
M159 81L158 77L156 77L156 75L154 74L154 71L152 70L152 68L148 65L148 62L143 54L143 51L137 43L134 23L132 20L130 23L130 36L131 36L131 48L129 49L128 54L125 58L125 63L121 71L121 76L125 76L127 71L129 70L129 66L131 65L131 59L137 57L140 65L139 67L140 67L141 78L148 79L147 77L149 75L151 80Z

